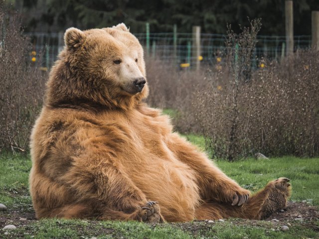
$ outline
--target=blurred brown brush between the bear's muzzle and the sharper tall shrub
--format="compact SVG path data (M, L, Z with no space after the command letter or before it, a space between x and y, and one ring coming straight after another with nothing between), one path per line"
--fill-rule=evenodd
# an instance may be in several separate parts
M175 110L173 124L180 132L199 132L200 125L193 114L196 89L205 78L205 72L176 69L172 64L149 58L147 62L150 95L148 104Z

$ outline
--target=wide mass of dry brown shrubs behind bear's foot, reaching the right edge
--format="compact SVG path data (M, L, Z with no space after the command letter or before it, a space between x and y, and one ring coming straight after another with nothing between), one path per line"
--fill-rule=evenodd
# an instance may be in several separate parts
M223 70L209 70L206 87L198 90L193 102L207 147L214 157L230 161L257 152L318 156L319 52L299 52L249 73L253 44L245 40L254 40L254 24L258 26L252 22L231 41L244 41L247 48L238 51L238 66L234 50L228 51Z

